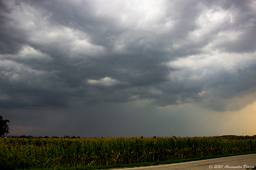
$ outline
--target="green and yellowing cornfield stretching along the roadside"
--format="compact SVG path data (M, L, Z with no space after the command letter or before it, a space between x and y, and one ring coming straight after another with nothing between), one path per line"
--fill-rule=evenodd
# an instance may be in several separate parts
M157 137L0 140L0 167L111 165L256 151L255 137Z

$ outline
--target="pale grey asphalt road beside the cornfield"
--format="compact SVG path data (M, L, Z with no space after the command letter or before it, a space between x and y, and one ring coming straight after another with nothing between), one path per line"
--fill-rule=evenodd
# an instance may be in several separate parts
M190 169L190 170L237 169L239 170L239 169L246 169L248 168L248 166L256 167L256 154L198 160L198 161L168 164L168 165L125 168L125 170L172 170L172 169Z

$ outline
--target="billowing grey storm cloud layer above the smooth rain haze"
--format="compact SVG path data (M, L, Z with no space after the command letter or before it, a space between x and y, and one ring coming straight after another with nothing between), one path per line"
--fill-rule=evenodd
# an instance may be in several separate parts
M0 6L1 109L147 99L233 111L256 100L255 1Z

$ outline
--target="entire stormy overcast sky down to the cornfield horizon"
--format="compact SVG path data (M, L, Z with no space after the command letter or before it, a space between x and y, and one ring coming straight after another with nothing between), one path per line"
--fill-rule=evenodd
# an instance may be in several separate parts
M256 134L256 1L0 2L7 136Z

